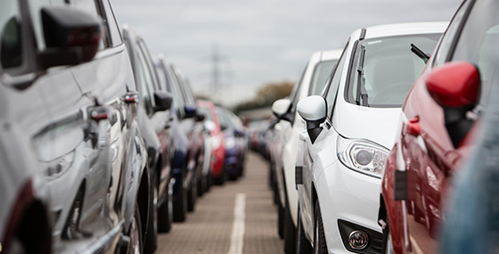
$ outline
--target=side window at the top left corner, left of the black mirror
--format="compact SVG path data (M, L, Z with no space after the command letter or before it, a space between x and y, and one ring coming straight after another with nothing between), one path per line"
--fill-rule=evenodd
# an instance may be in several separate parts
M7 0L0 8L0 60L3 69L22 64L22 40L18 1Z

